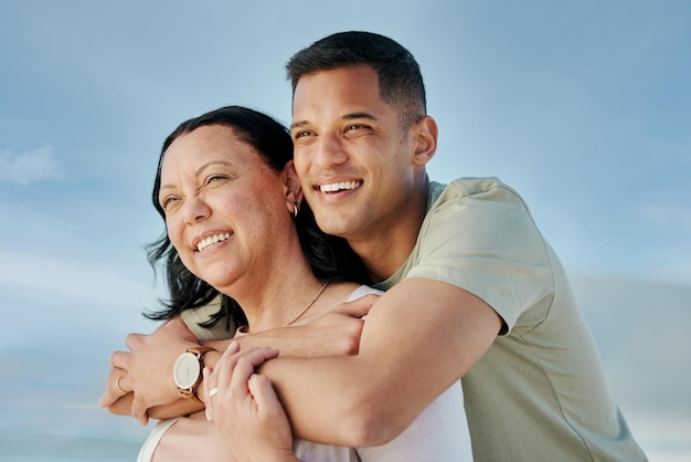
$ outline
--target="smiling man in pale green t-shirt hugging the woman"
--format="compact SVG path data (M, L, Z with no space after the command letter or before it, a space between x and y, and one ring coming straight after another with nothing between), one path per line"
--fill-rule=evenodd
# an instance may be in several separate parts
M646 460L522 199L492 178L428 181L437 126L410 52L378 34L339 33L297 53L288 74L306 200L319 227L346 238L374 286L387 291L372 305L357 355L262 366L295 434L381 444L463 378L475 460ZM153 356L127 355L142 355L148 343L130 338L132 354L113 357L136 396L146 390L130 375L143 375Z

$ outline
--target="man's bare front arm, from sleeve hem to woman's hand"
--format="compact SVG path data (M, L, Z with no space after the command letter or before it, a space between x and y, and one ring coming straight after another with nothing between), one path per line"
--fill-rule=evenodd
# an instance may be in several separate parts
M277 358L274 384L296 437L338 445L384 444L488 350L502 326L475 295L427 279L386 292L364 323L360 351Z

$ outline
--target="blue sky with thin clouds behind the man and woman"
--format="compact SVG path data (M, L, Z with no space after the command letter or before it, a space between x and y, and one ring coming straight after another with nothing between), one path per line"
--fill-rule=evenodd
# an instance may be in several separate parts
M0 1L6 354L98 338L87 359L105 361L153 328L142 246L162 231L149 193L163 138L227 104L289 123L284 63L343 30L417 57L440 130L433 179L513 186L575 277L691 288L684 0Z

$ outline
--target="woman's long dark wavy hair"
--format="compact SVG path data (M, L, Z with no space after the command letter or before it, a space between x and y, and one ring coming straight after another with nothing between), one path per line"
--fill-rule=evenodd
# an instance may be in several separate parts
M231 128L235 136L253 146L273 170L283 170L286 164L293 159L293 140L289 132L278 122L259 112L246 107L227 106L189 119L180 124L166 138L161 148L151 201L163 221L166 221L166 212L159 202L159 189L166 151L180 136L209 125L222 125ZM295 224L302 252L317 277L321 280L348 279L362 282L365 272L360 260L346 240L325 234L317 227L315 216L307 202L301 204ZM169 291L169 298L160 301L163 309L145 313L148 318L169 319L184 309L209 304L220 295L215 288L196 277L182 264L178 251L168 238L168 232L163 232L158 240L147 245L146 249L149 263L155 271L160 262L163 263ZM222 295L221 311L202 326L211 327L224 317L228 323L234 322L236 326L246 324L246 317L237 302Z

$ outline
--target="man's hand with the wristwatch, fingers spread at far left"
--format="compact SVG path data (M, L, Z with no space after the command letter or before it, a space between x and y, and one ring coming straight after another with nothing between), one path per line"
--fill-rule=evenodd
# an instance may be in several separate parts
M115 351L110 356L110 366L119 371L108 376L98 403L110 409L123 391L134 391L131 414L146 424L149 408L181 399L172 380L172 367L178 356L198 345L198 340L184 322L176 317L150 335L128 335L126 345L131 351Z

